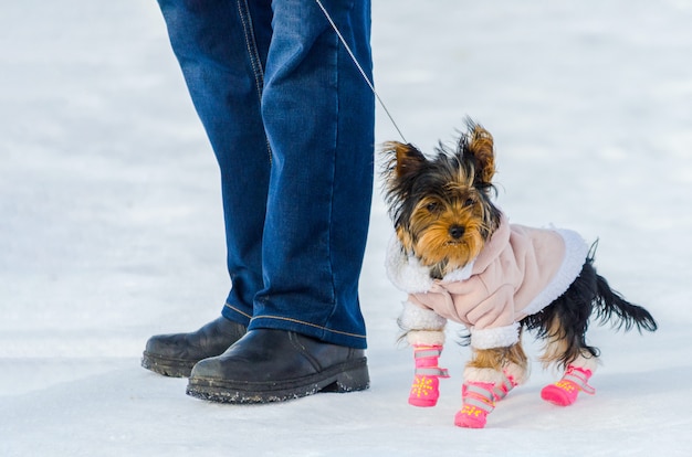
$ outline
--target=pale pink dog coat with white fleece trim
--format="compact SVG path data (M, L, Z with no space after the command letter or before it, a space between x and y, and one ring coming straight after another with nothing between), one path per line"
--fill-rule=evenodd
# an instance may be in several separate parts
M518 321L562 296L587 255L588 246L576 232L510 224L503 215L479 256L442 279L430 278L430 269L407 255L396 237L387 273L409 294L405 313L410 305L434 311L465 325L472 347L491 349L517 342ZM416 322L416 316L424 315L412 312L401 320L409 330L440 330L429 328L429 318Z

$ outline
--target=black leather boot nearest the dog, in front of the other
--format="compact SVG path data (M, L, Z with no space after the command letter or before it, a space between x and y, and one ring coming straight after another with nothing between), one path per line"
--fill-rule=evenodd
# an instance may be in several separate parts
M269 403L370 383L364 351L285 330L249 331L223 354L195 365L188 395L222 403Z

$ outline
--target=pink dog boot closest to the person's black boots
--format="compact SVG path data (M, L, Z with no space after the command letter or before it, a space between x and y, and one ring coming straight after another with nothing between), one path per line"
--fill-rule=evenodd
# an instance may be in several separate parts
M413 406L434 406L440 397L440 378L449 378L445 369L438 366L441 346L413 346L416 378L409 394L409 404Z

